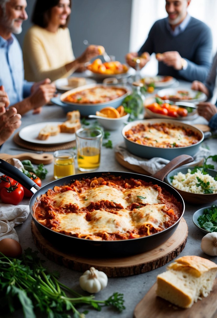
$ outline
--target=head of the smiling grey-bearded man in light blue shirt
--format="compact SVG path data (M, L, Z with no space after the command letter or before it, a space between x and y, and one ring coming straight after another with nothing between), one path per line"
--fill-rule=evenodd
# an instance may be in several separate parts
M22 32L22 23L28 18L25 8L26 0L9 0L0 11L0 28L3 33L19 34Z

